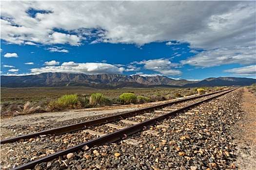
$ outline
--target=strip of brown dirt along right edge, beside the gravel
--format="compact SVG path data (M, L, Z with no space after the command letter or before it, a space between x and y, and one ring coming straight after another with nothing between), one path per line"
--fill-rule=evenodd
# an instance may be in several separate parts
M244 88L241 108L243 117L236 124L236 162L238 170L256 170L256 97Z

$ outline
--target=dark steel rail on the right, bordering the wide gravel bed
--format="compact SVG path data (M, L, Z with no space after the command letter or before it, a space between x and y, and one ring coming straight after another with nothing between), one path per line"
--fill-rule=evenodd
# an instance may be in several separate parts
M64 155L64 154L68 154L68 153L73 153L75 151L78 151L78 150L81 150L83 149L83 147L86 145L88 146L89 148L90 147L93 147L95 145L102 145L102 144L105 144L105 143L110 143L110 142L115 142L117 140L120 140L123 138L123 136L130 136L132 134L135 134L141 130L144 129L144 127L147 127L147 126L151 126L151 125L154 125L156 124L157 122L161 121L162 119L166 119L176 113L179 113L179 112L182 112L184 110L187 110L191 107L194 107L200 103L203 103L203 102L207 102L207 101L210 101L212 99L215 99L219 96L222 96L224 94L227 94L233 90L236 90L237 88L233 88L229 91L226 91L224 93L221 93L217 96L213 96L213 97L210 97L208 99L205 99L205 100L202 100L200 102L196 102L196 103L193 103L193 104L190 104L188 106L185 106L183 108L180 108L180 109L177 109L175 111L172 111L172 112L169 112L169 113L166 113L162 116L159 116L157 118L154 118L154 119L150 119L150 120L146 120L146 121L143 121L141 123L138 123L136 125L132 125L132 126L129 126L127 128L124 128L124 129L121 129L121 130L118 130L116 132L113 132L111 134L107 134L107 135L104 135L104 136L101 136L101 137L98 137L98 138L95 138L93 140L90 140L90 141L87 141L87 142L84 142L84 143L81 143L79 145L76 145L76 146L73 146L69 149L66 149L66 150L63 150L63 151L59 151L58 153L53 153L53 154L50 154L48 156L45 156L45 157L42 157L42 158L39 158L37 160L34 160L32 162L29 162L27 164L24 164L24 165L21 165L19 167L16 167L12 170L25 170L25 169L29 169L29 168L32 168L33 166L36 166L37 164L40 164L42 162L46 162L46 161L49 161L49 160L52 160L52 159L55 159L55 158L58 158L59 156L61 155Z

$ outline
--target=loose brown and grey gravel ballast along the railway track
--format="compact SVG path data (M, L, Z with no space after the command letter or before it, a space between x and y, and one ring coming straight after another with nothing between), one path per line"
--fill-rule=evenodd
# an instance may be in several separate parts
M245 115L241 108L242 93L240 88L147 128L156 133L139 132L126 140L60 156L37 165L35 169L253 170L250 165L245 167L237 162L238 154L249 152L251 156L246 161L255 163L256 148L247 145L241 147L236 135L236 126ZM63 136L68 140L75 138L80 141L79 135ZM42 137L56 142L53 136ZM134 142L127 142L130 139ZM1 147L3 149L5 146ZM24 152L30 151L28 148ZM9 148L8 152L14 151ZM50 154L47 148L34 152ZM4 161L7 160L1 160L1 169L14 168L7 167Z

